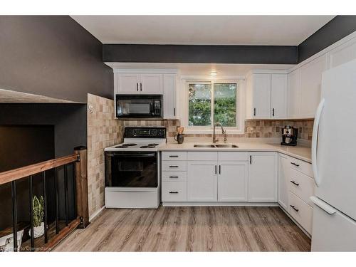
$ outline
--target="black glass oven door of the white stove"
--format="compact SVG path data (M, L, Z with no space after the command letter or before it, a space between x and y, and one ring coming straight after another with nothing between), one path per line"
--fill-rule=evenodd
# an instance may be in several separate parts
M158 187L157 152L105 152L106 187Z

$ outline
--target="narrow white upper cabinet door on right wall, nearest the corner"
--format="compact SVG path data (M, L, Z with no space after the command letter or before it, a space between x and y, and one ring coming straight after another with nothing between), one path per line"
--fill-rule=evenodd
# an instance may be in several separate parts
M300 70L288 74L288 118L297 118L300 110Z

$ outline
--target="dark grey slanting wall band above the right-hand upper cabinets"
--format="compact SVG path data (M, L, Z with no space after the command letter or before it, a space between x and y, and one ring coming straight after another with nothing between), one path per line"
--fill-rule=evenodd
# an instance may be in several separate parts
M298 46L298 63L356 31L356 16L335 16Z

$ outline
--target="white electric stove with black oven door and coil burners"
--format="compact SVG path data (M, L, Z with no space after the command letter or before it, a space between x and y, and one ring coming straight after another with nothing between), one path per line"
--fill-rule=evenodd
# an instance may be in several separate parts
M164 127L125 127L124 142L105 148L105 207L157 209L165 143Z

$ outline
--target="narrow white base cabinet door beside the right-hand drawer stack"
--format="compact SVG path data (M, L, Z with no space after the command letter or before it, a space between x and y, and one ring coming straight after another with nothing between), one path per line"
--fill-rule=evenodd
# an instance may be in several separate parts
M290 159L286 155L278 155L278 203L289 210L288 190L290 179Z

